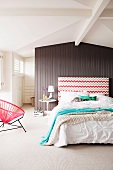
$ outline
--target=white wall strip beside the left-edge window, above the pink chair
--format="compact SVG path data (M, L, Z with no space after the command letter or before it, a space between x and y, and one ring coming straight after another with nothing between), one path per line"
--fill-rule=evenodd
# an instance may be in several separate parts
M12 52L3 53L3 82L0 99L12 102Z

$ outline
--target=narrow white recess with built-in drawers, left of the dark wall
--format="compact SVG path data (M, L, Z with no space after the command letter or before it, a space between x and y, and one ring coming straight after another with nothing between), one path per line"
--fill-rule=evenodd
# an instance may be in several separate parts
M26 57L24 62L24 103L31 103L31 97L34 97L35 57Z

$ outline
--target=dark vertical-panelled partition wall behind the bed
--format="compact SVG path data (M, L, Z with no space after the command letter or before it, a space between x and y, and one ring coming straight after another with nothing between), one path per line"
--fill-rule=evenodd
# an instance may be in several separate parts
M109 77L110 96L113 96L113 49L85 43L75 46L74 42L36 48L35 109L46 109L39 102L43 87L53 85L53 98L57 100L59 76ZM56 104L51 103L49 109Z

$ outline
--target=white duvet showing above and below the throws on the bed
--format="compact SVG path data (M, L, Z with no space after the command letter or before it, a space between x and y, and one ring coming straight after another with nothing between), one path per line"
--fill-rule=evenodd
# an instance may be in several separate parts
M51 125L57 112L65 108L113 108L113 99L101 96L98 101L60 102L52 110L48 124ZM113 143L113 120L63 124L55 141L54 145L57 147L77 143Z

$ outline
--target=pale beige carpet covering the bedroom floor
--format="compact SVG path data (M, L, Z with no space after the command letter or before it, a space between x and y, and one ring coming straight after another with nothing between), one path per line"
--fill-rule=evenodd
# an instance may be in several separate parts
M34 117L24 106L27 130L0 133L0 170L113 170L113 145L40 146L47 132L47 117Z

